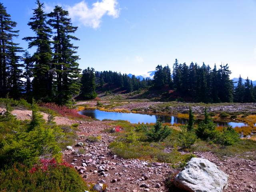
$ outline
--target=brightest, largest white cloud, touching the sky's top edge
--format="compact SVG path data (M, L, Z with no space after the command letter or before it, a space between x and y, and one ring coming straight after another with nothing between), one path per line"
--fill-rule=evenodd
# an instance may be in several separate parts
M88 7L83 0L74 6L67 6L67 10L73 21L78 20L84 26L89 26L94 29L100 27L102 17L107 14L113 18L118 18L120 8L118 8L117 0L102 0L92 4L92 7Z

